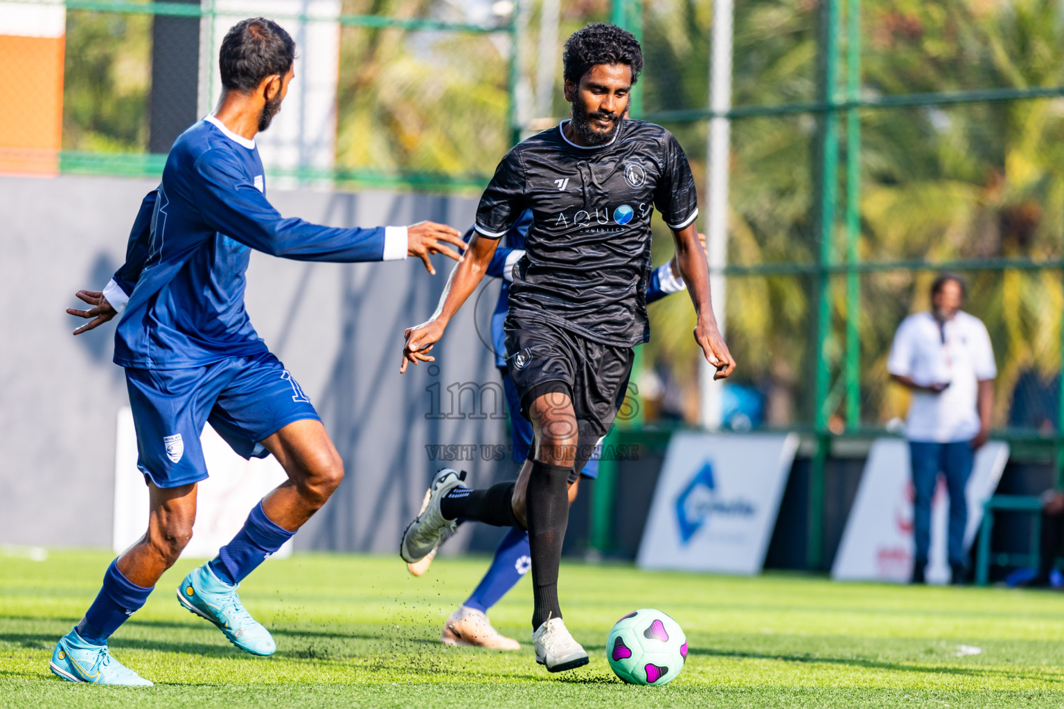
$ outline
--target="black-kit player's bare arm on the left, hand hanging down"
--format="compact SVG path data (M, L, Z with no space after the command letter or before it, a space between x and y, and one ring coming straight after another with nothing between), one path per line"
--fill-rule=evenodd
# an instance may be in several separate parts
M400 374L405 373L409 362L417 365L418 361L435 361L436 358L429 356L429 352L444 336L447 323L480 285L498 246L498 239L489 239L480 234L472 235L465 255L459 259L458 266L447 278L436 311L420 325L406 328L404 333L406 343L403 345L402 365L399 367Z

